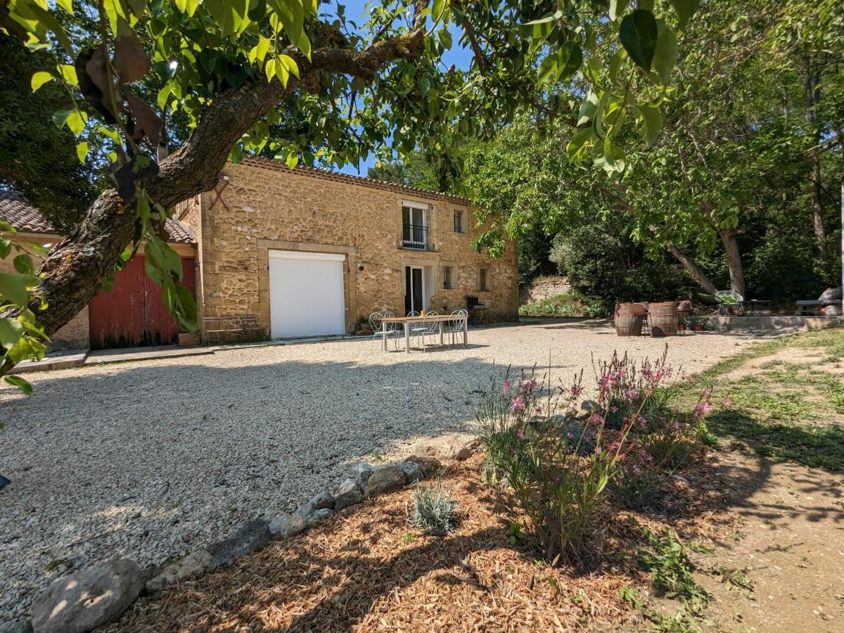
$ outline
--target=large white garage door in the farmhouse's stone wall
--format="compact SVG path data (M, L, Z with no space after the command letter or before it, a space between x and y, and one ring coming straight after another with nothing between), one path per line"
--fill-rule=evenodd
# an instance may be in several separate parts
M345 258L321 252L269 252L273 338L345 333Z

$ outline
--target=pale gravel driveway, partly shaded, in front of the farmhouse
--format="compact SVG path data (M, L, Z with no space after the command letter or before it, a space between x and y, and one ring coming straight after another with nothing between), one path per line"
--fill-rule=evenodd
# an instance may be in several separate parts
M700 371L749 337L668 339ZM52 578L128 556L160 564L291 511L350 464L473 429L472 390L506 365L591 376L592 354L657 355L664 339L617 338L604 322L472 330L469 348L383 353L371 339L31 375L0 387L0 622Z

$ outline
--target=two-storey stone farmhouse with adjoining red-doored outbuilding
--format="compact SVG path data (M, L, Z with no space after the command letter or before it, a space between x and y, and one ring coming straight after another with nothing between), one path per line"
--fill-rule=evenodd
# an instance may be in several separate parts
M23 236L57 241L21 203L0 199L0 219ZM473 311L485 322L517 319L516 245L501 257L476 252L480 229L464 197L247 158L226 165L214 190L178 205L166 229L203 340L351 333L372 311L442 314L475 303L485 306ZM176 342L178 326L156 288L140 248L57 346Z

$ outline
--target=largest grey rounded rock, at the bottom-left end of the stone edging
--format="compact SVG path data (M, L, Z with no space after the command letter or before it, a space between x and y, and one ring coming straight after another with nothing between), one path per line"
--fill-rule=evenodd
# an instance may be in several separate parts
M132 560L106 560L59 578L32 603L38 633L85 633L112 622L129 608L143 587Z

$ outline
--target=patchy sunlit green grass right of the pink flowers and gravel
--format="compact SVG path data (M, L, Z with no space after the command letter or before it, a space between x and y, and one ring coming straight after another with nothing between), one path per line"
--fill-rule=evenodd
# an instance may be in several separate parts
M813 468L844 468L844 427L832 418L844 414L844 381L823 371L824 363L768 361L747 376L725 378L751 360L783 350L824 349L836 355L844 347L841 329L802 333L754 345L702 372L695 386L672 389L672 402L688 406L701 384L714 387L713 401L729 396L731 404L711 414L711 433L740 441L766 457ZM782 354L781 354L782 355Z

